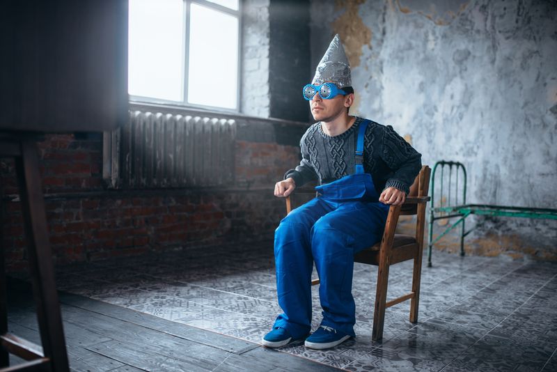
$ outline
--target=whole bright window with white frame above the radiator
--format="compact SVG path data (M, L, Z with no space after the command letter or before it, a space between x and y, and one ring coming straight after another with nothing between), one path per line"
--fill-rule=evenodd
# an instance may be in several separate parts
M239 0L130 0L128 93L237 111Z

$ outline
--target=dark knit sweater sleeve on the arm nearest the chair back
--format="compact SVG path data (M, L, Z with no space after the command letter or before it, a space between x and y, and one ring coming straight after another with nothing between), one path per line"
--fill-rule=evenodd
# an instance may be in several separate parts
M420 173L422 155L400 137L391 125L384 128L381 157L393 171L393 176L385 183L385 189L395 187L408 194L410 186Z

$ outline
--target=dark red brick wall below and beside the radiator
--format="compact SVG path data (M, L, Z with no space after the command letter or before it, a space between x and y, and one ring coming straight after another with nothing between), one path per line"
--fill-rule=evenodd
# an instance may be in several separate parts
M267 135L257 135L262 130ZM271 240L284 214L272 189L299 162L292 144L303 130L296 123L248 125L235 145L235 183L212 189L107 189L100 134L47 135L38 148L55 262ZM3 249L8 271L15 272L26 268L26 252L13 160L0 161L0 182Z

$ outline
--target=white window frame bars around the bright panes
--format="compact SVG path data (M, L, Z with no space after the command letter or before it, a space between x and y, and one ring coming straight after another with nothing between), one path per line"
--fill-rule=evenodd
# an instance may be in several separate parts
M164 98L153 98L146 97L143 95L129 95L130 102L133 103L154 103L154 104L170 104L173 106L180 107L190 107L194 109L204 109L208 111L219 111L219 112L230 112L239 114L242 104L240 99L242 98L242 0L238 0L238 10L226 8L226 6L221 6L217 3L212 3L207 0L182 0L184 3L184 10L182 14L182 19L184 20L184 26L182 27L182 37L185 42L182 44L182 69L184 72L184 78L182 80L183 88L183 100L165 100ZM228 109L226 107L218 106L207 106L203 104L193 104L188 102L188 78L189 78L189 33L190 33L190 8L191 4L195 3L200 6L205 6L211 8L212 10L217 10L228 15L233 15L238 20L238 51L237 51L237 88L236 88L236 108Z

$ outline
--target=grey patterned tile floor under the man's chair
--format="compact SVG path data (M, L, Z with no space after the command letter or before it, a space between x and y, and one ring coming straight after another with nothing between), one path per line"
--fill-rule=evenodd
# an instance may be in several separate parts
M281 350L347 371L557 371L557 264L434 252L423 268L419 322L387 309L371 341L377 268L356 264L356 339L325 351ZM406 293L411 262L391 267ZM281 311L272 243L205 247L62 268L58 288L258 343ZM314 322L320 322L317 287Z

